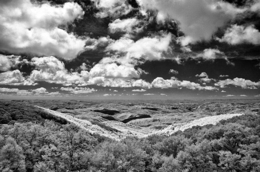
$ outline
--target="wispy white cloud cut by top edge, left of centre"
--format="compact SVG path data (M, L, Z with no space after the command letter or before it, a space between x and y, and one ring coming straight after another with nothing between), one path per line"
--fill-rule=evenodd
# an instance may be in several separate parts
M118 18L132 10L126 0L91 0L95 2L95 6L99 9L96 13L97 17L113 17Z

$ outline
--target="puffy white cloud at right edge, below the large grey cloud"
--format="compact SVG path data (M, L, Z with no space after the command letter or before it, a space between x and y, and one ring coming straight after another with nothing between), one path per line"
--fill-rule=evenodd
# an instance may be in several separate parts
M226 42L231 45L241 43L260 44L260 32L254 25L248 27L237 24L228 28L222 38L216 38L219 42Z

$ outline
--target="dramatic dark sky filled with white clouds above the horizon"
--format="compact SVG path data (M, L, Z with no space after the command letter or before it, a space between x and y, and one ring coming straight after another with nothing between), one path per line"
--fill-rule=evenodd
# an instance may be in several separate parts
M260 98L260 0L0 1L0 99Z

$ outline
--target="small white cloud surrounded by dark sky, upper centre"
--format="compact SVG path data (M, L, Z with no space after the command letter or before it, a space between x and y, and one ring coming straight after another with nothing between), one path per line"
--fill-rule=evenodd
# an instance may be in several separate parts
M138 25L139 21L136 18L127 18L120 20L119 18L114 20L112 23L108 24L108 29L110 33L115 32L126 32L126 33L132 33L132 32L139 32L141 29L138 29L136 25Z

